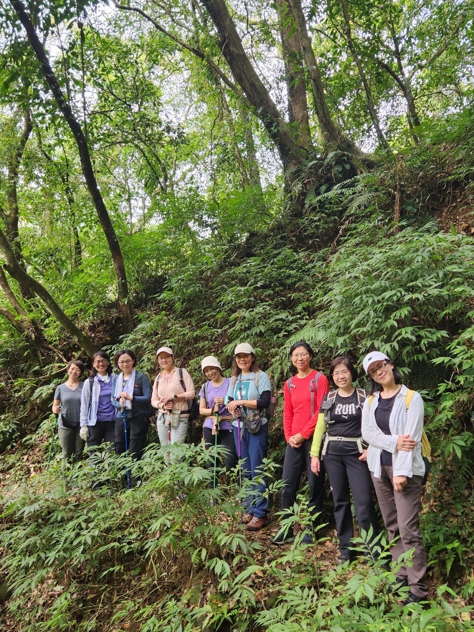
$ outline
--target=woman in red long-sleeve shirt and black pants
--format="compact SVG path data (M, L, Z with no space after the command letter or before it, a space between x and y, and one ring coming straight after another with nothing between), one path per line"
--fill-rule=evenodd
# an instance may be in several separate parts
M313 349L300 341L289 349L289 360L293 377L285 382L283 427L287 442L283 463L283 489L281 509L290 509L296 501L301 474L306 469L310 487L308 506L313 517L313 525L319 525L319 514L324 502L324 471L315 476L311 471L310 450L314 427L317 422L321 402L329 391L326 377L310 367ZM293 530L281 530L273 538L272 544L285 544L293 540ZM313 533L308 531L303 544L312 544Z

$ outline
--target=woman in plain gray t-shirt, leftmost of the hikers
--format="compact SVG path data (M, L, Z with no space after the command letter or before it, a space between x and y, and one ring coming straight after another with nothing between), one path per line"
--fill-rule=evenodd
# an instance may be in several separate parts
M59 442L64 459L78 461L83 453L85 442L80 438L79 414L81 410L81 393L83 382L79 379L85 367L80 360L72 360L66 371L68 379L64 384L56 386L52 411L58 418ZM74 427L73 427L74 426Z

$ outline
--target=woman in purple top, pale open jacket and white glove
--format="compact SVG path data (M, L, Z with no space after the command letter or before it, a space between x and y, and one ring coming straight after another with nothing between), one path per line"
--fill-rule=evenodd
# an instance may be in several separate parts
M112 367L104 351L97 351L92 356L92 368L84 382L81 395L80 437L87 441L90 452L89 463L96 470L104 459L99 454L102 442L107 444L107 451L112 452L115 444L116 410L112 405L114 392L114 375ZM109 480L93 482L92 489L98 490L109 483Z

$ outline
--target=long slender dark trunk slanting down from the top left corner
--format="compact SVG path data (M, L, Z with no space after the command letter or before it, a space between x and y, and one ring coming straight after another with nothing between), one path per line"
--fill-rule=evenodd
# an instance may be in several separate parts
M49 64L49 59L46 56L46 52L44 51L39 37L37 36L35 29L33 28L32 21L30 20L30 17L26 12L23 3L21 3L20 0L10 0L10 3L15 9L18 18L20 18L21 24L27 32L28 39L30 40L30 43L33 47L33 51L35 52L37 58L41 63L41 70L44 79L49 85L49 88L54 95L54 99L56 99L59 110L61 111L61 114L63 114L64 119L66 119L66 123L68 123L70 130L76 140L80 155L82 173L87 183L87 188L90 196L94 201L95 209L97 210L99 221L102 225L102 229L104 230L104 234L106 235L107 243L109 244L109 249L112 255L112 261L117 278L118 298L120 302L121 312L127 329L130 329L132 315L130 300L128 296L128 284L126 280L125 264L123 262L123 256L121 253L118 238L114 231L114 227L112 226L112 222L107 212L106 205L104 204L104 200L102 199L102 195L100 195L99 186L97 186L94 168L92 167L92 162L90 161L90 155L87 147L87 139L83 134L78 120L73 114L70 104L68 104L66 99L64 99L61 88L59 87L58 80L52 71L51 64Z

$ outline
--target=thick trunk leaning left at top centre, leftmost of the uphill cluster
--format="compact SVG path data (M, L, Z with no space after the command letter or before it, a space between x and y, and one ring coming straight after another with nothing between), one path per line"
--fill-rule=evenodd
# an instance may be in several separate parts
M236 81L252 105L256 116L265 126L270 138L276 143L285 171L299 166L303 162L301 150L296 145L295 138L274 100L270 97L269 91L250 63L226 3L224 0L199 1L209 11L217 28L219 48Z

